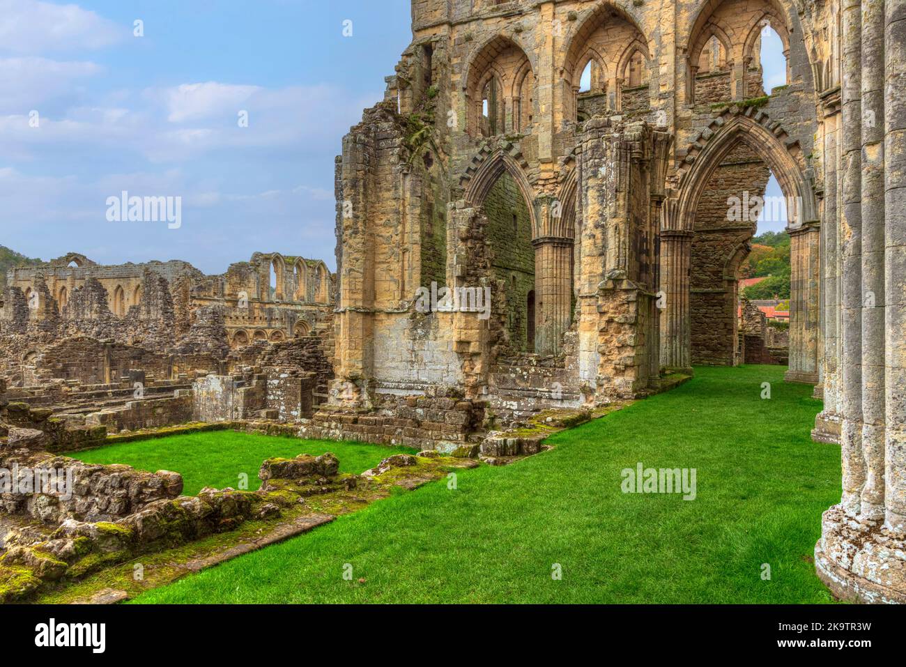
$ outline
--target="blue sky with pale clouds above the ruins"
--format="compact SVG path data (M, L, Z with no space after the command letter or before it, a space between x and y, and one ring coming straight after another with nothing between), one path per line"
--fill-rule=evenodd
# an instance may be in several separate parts
M410 0L0 0L0 245L333 268L333 158L409 24ZM181 227L109 222L122 190L182 198Z

